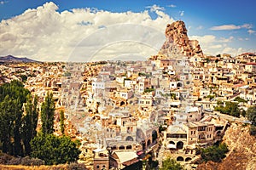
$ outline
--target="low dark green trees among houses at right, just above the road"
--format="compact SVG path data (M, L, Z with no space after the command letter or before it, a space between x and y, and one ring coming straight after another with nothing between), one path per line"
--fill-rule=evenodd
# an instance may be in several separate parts
M241 114L241 111L238 108L238 105L234 102L225 102L224 105L218 105L215 108L215 111L220 111L223 114L227 114L230 116L236 116L239 117Z

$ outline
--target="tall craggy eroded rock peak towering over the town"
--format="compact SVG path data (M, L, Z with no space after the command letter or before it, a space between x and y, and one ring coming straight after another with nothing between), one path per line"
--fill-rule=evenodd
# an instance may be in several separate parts
M189 40L185 23L181 20L175 21L166 26L166 42L160 49L159 54L167 57L203 55L199 42Z

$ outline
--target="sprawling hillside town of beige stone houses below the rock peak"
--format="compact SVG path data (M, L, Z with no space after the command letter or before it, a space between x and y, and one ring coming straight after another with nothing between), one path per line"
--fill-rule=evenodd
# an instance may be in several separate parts
M256 54L195 55L147 61L0 65L0 81L21 79L43 101L54 94L66 131L81 140L93 169L141 169L165 156L189 164L222 138L220 101L256 105ZM19 74L17 73L19 71ZM55 133L59 132L58 116Z

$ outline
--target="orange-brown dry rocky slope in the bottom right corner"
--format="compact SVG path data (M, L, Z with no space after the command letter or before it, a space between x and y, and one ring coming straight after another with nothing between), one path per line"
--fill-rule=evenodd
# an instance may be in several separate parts
M229 153L220 163L207 162L199 165L198 170L256 169L256 138L249 134L249 125L243 127L233 123L223 138Z

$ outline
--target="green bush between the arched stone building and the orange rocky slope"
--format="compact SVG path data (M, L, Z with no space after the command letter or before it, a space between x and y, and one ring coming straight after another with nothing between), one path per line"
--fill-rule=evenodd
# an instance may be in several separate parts
M201 150L201 158L203 161L220 162L228 151L226 144L213 145Z

